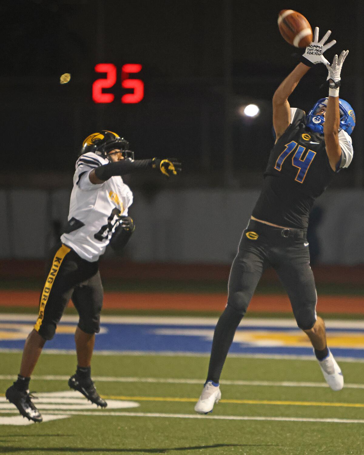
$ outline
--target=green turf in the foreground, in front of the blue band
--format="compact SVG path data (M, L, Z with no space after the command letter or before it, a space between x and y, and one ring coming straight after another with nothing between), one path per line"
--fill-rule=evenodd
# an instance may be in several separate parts
M2 397L11 383L4 378L17 374L19 362L20 354L0 353ZM222 382L230 383L222 384L222 401L212 414L194 418L197 415L193 406L201 392L200 380L202 383L207 364L207 356L96 354L93 376L98 377L95 382L100 393L110 402L113 397L140 406L102 411L96 407L86 411L73 409L69 411L71 417L39 425L0 425L0 453L364 453L364 385L360 384L363 363L342 362L348 387L333 392L322 387L323 378L315 361L228 358ZM32 380L31 390L66 391L66 378L75 366L75 356L43 354L35 370L35 378L39 379ZM45 375L52 376L45 379ZM242 380L246 383L234 383ZM61 402L50 408L42 414L67 414ZM3 406L0 417L5 416L15 413L10 414ZM284 418L295 420L273 420Z

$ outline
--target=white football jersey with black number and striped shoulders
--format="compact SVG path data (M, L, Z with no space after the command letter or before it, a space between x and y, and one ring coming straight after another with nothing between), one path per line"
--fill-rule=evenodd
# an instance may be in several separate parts
M61 236L63 243L90 262L105 253L120 217L127 216L133 202L133 193L120 176L101 184L90 182L92 169L108 163L107 158L93 152L81 155L76 161L68 224Z

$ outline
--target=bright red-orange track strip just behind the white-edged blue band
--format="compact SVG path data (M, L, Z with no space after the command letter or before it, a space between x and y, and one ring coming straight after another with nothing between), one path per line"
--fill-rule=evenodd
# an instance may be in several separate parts
M0 291L0 306L34 307L38 305L38 291ZM105 293L104 308L129 310L186 310L222 311L226 294L206 293ZM256 294L250 303L249 312L291 311L285 295ZM364 299L350 296L319 296L318 313L364 314Z

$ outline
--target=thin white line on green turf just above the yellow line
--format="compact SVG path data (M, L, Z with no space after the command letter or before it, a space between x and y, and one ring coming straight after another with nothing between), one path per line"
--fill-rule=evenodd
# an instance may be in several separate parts
M0 379L11 380L15 375L1 374ZM48 374L34 375L33 380L42 381L64 381L69 379L69 375ZM133 378L117 376L93 376L97 382L126 382L126 383L146 383L146 384L203 384L204 379L177 379L177 378ZM221 380L222 385L252 385L263 387L329 387L325 382L296 382L296 381L243 381L243 380ZM364 389L364 384L344 384L345 389Z

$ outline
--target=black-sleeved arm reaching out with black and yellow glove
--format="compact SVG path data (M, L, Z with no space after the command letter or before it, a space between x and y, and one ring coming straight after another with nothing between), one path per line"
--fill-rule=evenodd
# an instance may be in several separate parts
M92 170L89 174L91 183L101 184L113 176L122 176L131 172L155 169L167 177L176 176L182 170L182 165L174 158L153 158L150 160L121 160L104 164Z

